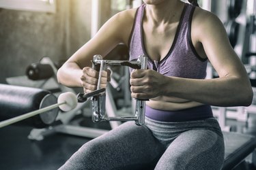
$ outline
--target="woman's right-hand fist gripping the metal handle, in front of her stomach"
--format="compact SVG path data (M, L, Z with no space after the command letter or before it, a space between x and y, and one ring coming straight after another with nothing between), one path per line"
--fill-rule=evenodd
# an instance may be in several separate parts
M152 99L164 94L167 77L152 69L134 69L130 74L130 91L135 99Z

